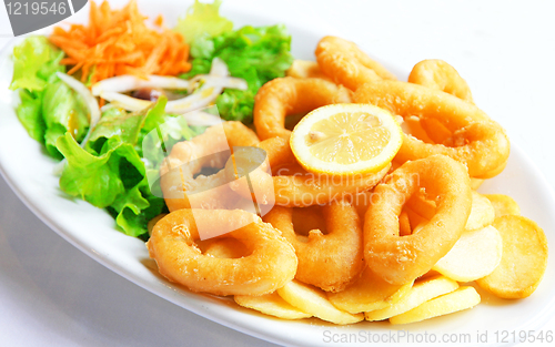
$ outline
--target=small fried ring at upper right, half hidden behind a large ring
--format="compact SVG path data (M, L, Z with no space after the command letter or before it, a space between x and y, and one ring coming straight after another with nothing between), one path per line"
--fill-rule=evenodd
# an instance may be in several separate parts
M473 103L472 92L466 81L447 62L440 59L428 59L414 65L408 82L455 95Z

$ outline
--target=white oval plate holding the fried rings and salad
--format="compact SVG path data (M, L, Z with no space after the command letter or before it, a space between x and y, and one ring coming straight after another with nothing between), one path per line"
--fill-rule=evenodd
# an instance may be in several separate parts
M175 20L176 14L184 11L183 6L179 7L180 11L174 10L179 4L179 1L165 1L162 6L157 3L155 7L154 4L145 7L152 7L152 11L148 13L161 12L171 22ZM228 9L226 14L238 27L285 23L293 35L293 54L302 59L313 59L312 51L317 40L324 34L336 32L323 25L306 23L300 27L283 18L266 18L260 13L246 13L244 10ZM81 11L72 18L72 21L85 18L87 13ZM553 257L549 257L542 284L529 298L506 302L492 297L478 288L482 304L477 307L407 326L365 322L340 327L315 318L286 322L243 309L230 299L193 294L170 284L158 274L143 242L117 231L114 221L104 211L83 201L68 197L60 191L58 178L52 175L54 161L28 136L13 111L18 96L17 93L8 91L12 76L10 60L12 45L13 42L0 53L0 172L27 206L59 235L93 259L155 295L239 331L291 346L323 344L342 346L345 345L342 338L349 339L350 346L369 343L386 346L408 341L411 334L413 339L416 341L422 339L424 345L426 341L433 343L432 336L440 341L443 337L455 334L460 337L457 346L472 346L476 344L477 331L537 330L553 315L555 307L555 296L552 292L555 284ZM386 65L394 72L402 72L395 69L395 57L382 57L382 59L389 62ZM517 146L512 147L506 170L494 180L485 182L481 192L513 196L521 205L523 215L536 221L544 228L549 244L555 244L554 194L541 172ZM490 333L492 334L494 333ZM405 337L400 340L400 336ZM467 344L464 343L466 336ZM490 341L493 341L492 336Z

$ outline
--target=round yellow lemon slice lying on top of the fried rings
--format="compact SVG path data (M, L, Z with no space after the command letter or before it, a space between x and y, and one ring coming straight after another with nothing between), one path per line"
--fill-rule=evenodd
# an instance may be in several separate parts
M393 160L402 142L401 126L389 111L356 103L310 112L290 139L305 170L334 175L377 172Z

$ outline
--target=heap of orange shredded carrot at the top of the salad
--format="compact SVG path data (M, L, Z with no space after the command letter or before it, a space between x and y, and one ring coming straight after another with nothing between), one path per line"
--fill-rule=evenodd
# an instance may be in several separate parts
M50 41L62 49L70 65L69 74L81 73L81 81L91 83L120 74L147 78L149 74L175 75L191 69L189 45L174 31L162 29L163 18L145 24L135 0L121 10L100 7L91 1L89 25L72 24L68 31L54 28Z

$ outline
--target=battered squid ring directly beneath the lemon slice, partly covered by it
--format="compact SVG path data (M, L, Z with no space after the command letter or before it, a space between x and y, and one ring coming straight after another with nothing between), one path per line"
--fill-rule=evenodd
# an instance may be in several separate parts
M296 164L287 140L271 137L262 141L256 146L266 152L270 167ZM234 160L241 161L241 159L232 157L225 164L229 181L239 178L233 169ZM273 190L274 192L273 201L258 203L266 204L271 202L285 207L306 207L327 204L333 200L342 200L344 196L369 191L385 176L391 164L377 173L366 175L335 176L315 174L297 167L294 172L284 172L283 175L271 176L266 172L266 167L261 165L249 174L249 178L251 184L256 186L259 191L271 192ZM252 196L249 185L243 182L235 181L231 188L245 198L255 198Z

